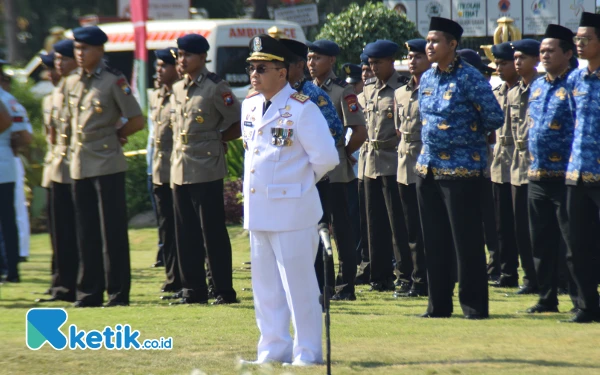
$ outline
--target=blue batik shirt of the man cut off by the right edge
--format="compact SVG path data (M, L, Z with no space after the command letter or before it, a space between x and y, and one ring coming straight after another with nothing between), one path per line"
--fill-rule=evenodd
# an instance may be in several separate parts
M573 72L569 87L576 120L566 182L576 185L581 178L585 185L600 185L600 68Z

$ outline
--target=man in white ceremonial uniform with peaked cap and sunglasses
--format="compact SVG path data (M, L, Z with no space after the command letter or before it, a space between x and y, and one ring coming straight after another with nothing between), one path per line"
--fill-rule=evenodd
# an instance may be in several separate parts
M250 42L255 93L242 104L244 228L250 231L258 357L244 363L323 361L314 262L323 215L316 182L338 163L327 121L287 81L289 51L268 35ZM290 336L290 319L296 336Z

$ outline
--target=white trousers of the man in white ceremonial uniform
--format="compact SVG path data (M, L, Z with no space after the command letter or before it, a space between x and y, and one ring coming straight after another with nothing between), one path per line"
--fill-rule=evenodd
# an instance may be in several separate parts
M323 362L322 308L314 268L318 241L316 225L290 232L250 232L258 362Z

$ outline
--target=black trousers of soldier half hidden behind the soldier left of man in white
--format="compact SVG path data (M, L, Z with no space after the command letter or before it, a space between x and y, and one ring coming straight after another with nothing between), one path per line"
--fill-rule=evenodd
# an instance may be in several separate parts
M177 245L175 243L175 216L173 214L173 192L169 184L154 185L152 189L158 217L158 238L165 262L166 281L161 289L181 289Z

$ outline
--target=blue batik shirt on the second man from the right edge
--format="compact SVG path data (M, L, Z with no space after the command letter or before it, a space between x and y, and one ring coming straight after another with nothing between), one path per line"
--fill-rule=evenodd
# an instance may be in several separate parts
M569 69L551 80L536 79L529 91L530 181L563 180L573 143L575 103L569 89Z

